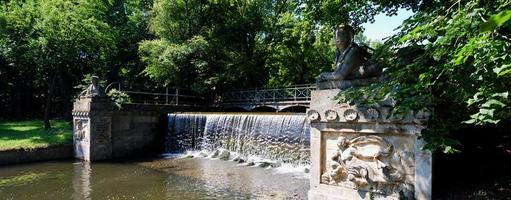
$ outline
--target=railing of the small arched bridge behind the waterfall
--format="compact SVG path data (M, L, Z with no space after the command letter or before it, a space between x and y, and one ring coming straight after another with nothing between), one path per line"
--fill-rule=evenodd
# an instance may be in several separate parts
M220 102L235 103L276 103L276 102L310 102L314 84L294 85L285 88L254 88L222 94Z

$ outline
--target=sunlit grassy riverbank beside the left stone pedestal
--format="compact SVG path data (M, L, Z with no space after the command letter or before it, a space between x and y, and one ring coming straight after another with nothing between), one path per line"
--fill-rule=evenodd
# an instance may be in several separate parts
M72 127L52 120L44 129L40 120L0 121L0 165L71 158Z

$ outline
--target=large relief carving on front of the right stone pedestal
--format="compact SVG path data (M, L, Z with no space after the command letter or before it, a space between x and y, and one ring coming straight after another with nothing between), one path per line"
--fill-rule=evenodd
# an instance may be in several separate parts
M392 164L394 147L385 139L358 136L349 139L340 136L333 155L327 155L326 169L321 183L364 190L392 190L403 182L404 173Z

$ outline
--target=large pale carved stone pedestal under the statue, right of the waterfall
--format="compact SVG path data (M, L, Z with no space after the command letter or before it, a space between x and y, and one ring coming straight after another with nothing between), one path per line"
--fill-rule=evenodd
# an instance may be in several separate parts
M343 105L339 91L312 93L309 199L431 199L431 153L419 139L428 113Z

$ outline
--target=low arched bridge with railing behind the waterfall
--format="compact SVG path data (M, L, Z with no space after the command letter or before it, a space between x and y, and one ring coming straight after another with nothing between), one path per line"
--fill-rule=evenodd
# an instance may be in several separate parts
M285 111L309 108L314 84L293 85L285 88L255 88L223 93L217 102L226 109L246 111Z

